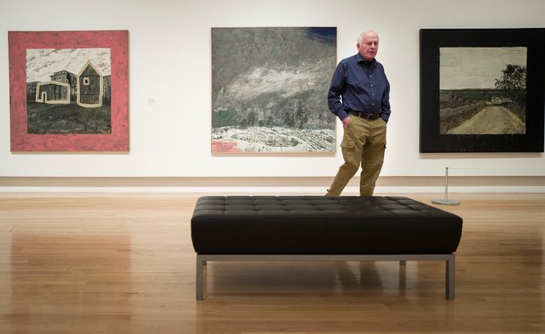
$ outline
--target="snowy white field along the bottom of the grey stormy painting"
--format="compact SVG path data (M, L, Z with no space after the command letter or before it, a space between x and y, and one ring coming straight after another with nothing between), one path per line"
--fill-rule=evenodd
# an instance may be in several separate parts
M224 126L212 129L212 152L335 152L335 129Z

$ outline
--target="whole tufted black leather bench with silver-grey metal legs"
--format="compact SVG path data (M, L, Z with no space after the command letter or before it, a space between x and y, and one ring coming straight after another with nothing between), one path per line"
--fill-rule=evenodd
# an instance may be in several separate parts
M207 261L446 261L462 219L406 197L205 196L191 218L197 300Z

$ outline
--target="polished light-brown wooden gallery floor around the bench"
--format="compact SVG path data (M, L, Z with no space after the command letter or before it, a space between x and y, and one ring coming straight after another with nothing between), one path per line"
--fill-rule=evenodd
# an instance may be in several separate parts
M0 194L0 333L545 333L545 194L449 196L456 300L443 262L210 262L197 302L197 197Z

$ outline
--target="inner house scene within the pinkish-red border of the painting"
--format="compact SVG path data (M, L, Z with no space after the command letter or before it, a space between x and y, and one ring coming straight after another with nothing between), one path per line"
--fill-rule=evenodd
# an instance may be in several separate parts
M111 133L109 49L29 49L26 53L27 133ZM34 96L29 98L29 92Z

